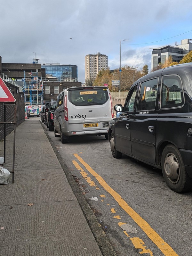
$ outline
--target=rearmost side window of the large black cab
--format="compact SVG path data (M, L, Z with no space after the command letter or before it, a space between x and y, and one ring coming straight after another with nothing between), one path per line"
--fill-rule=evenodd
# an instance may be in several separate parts
M164 76L161 85L161 109L184 104L183 88L178 76Z

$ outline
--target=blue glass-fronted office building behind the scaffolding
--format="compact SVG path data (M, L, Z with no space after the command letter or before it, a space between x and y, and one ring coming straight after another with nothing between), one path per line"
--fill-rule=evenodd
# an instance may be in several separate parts
M55 80L58 82L78 81L78 72L76 65L60 65L59 63L46 63L42 64L41 68L45 69L45 75L48 79L51 78L51 80Z

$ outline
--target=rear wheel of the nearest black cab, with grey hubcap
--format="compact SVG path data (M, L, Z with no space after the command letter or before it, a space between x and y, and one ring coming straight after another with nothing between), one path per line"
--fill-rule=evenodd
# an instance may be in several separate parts
M179 150L167 145L162 153L161 167L167 186L177 193L191 191L192 179L188 177Z

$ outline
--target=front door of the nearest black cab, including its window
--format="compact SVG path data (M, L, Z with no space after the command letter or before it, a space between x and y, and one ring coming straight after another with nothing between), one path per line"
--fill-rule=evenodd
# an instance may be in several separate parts
M136 98L137 87L133 87L124 105L124 113L115 122L115 147L117 151L132 156L131 139L130 139L130 126L133 118L134 103Z

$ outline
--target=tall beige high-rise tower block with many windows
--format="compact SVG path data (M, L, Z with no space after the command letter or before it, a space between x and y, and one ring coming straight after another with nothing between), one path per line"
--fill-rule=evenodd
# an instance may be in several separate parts
M108 56L105 54L88 54L85 56L85 79L97 77L100 70L108 69Z

